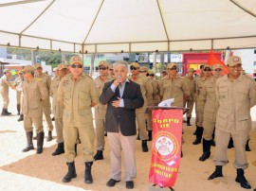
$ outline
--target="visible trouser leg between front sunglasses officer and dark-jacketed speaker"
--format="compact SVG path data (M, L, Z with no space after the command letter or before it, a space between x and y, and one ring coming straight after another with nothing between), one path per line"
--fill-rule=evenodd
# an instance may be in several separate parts
M96 118L95 119L95 132L96 132L96 149L104 150L105 148L105 119Z

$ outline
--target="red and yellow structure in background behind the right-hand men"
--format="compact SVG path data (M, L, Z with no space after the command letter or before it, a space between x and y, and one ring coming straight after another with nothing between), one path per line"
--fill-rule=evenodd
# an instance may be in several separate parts
M223 61L222 52L214 52L215 56ZM188 73L188 68L193 68L196 70L195 74L198 74L200 65L207 64L210 52L209 53L183 53L183 75Z

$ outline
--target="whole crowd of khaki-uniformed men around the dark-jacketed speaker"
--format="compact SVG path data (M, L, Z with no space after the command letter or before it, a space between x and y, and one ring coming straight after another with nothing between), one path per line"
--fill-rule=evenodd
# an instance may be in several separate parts
M210 147L215 148L215 171L209 180L223 177L222 166L228 163L227 148L235 148L234 166L237 170L236 182L249 189L250 184L244 175L247 168L246 150L248 147L249 131L251 129L250 108L255 105L255 82L244 74L240 57L232 56L227 63L229 74L222 75L221 64L200 65L199 75L194 76L195 70L188 68L188 74L180 77L175 63L169 63L161 77L155 79L155 74L146 66L140 67L133 62L130 66L129 80L140 86L144 104L136 110L137 139L141 140L143 152L147 152L147 141L152 140L152 115L145 113L147 106L156 106L161 100L174 98L172 106L187 107L187 126L192 126L192 110L195 105L195 140L193 145L202 142L200 161L210 158ZM113 72L114 71L114 72ZM107 106L101 104L104 84L114 81L115 68L107 61L99 63L99 77L94 80L83 73L82 60L74 56L70 65L61 63L54 68L54 78L43 73L41 64L27 65L18 73L14 83L9 82L10 72L4 71L1 78L1 95L3 97L2 115L9 115L9 87L17 92L18 121L24 120L27 135L27 146L23 151L34 149L33 128L36 130L37 150L43 152L45 133L43 130L43 113L47 122L47 141L52 140L53 125L50 118L50 96L54 113L55 129L58 147L53 156L64 153L68 172L63 182L75 178L74 160L76 146L82 144L83 160L85 163L84 182L92 183L91 167L94 161L103 159L105 115ZM95 109L95 129L91 108ZM96 134L96 135L95 135ZM94 138L96 138L96 154L94 155ZM203 140L203 141L202 141ZM110 180L111 181L111 180ZM108 182L114 186L116 182ZM127 184L126 184L127 185ZM133 188L133 185L127 188Z

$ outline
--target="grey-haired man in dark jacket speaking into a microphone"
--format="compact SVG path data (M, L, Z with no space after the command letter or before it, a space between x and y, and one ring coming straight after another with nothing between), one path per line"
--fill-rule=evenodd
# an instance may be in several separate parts
M135 111L143 106L144 99L139 85L127 78L127 62L116 61L113 67L116 79L105 83L100 97L101 104L107 104L105 128L111 159L111 179L106 185L112 187L120 182L122 150L126 188L133 189L137 176Z

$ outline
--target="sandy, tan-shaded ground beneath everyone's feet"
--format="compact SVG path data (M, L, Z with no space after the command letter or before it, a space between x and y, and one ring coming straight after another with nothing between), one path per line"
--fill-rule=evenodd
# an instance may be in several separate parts
M15 93L10 92L9 112L16 113ZM0 98L0 107L2 100ZM255 120L256 108L252 109L253 130L251 131L250 148L247 152L249 167L246 171L247 180L256 187L256 152L255 152ZM76 166L78 178L69 183L63 183L62 178L66 173L64 156L52 157L51 152L56 148L56 139L47 143L45 141L44 153L35 154L35 151L27 153L21 152L26 145L26 136L23 123L17 122L18 116L0 116L0 190L125 190L124 181L119 182L114 188L109 189L105 183L109 179L109 149L106 142L104 151L105 159L95 162L93 165L94 183L87 185L83 183L82 148L79 146ZM44 122L46 124L46 122ZM192 120L193 123L193 120ZM45 125L46 127L46 125ZM211 172L214 170L212 163L214 148L210 160L202 163L198 161L202 152L202 145L192 146L194 127L184 126L185 144L183 145L184 157L181 159L180 168L174 189L177 191L240 191L245 190L234 182L235 169L232 165L234 149L229 149L229 164L224 167L223 179L207 181ZM45 130L46 131L46 130ZM53 134L56 136L55 132ZM107 139L107 138L106 138ZM34 142L34 145L36 143ZM151 148L151 143L149 143ZM137 179L135 180L134 190L156 190L148 182L148 172L151 161L151 153L142 153L140 142L137 141ZM167 190L167 189L161 189Z

